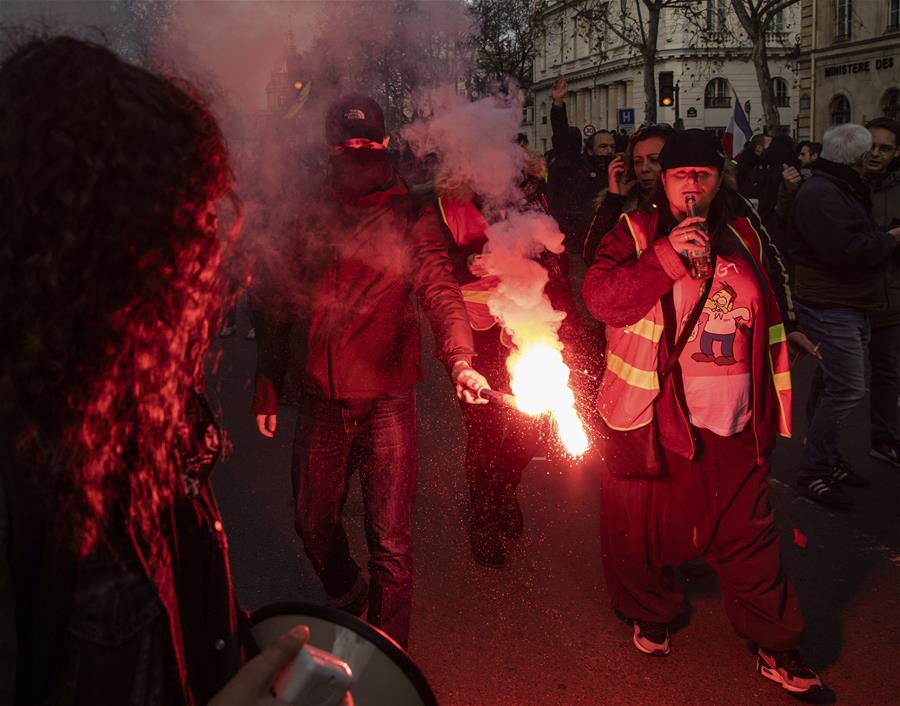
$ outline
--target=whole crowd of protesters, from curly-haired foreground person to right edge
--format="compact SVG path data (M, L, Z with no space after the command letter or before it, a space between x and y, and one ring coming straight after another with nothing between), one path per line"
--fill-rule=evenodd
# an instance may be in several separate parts
M674 568L704 558L757 670L819 690L800 656L768 459L791 434L793 352L817 359L798 491L847 508L844 488L867 484L840 449L867 365L872 455L900 466L900 127L841 125L821 144L761 135L732 163L702 130L648 125L627 145L601 130L585 143L565 98L560 79L549 179L524 157L513 207L552 214L588 268L578 287L565 258L535 256L566 314L566 355L599 380L575 392L602 452L612 607L640 652L668 655ZM15 49L0 105L0 291L21 341L0 370L0 697L275 703L272 678L307 633L257 655L209 484L222 443L203 361L246 280L226 141L190 86L68 37ZM509 391L514 344L485 306L497 282L483 264L504 215L440 165L414 198L369 97L335 101L323 138L327 175L283 253L290 282L256 290L253 411L274 436L286 377L297 385L297 533L329 604L405 647L417 304L468 434L475 559L503 566L503 540L522 533L516 487L537 430L482 396ZM305 235L322 223L327 242L314 244ZM353 473L368 572L341 520Z

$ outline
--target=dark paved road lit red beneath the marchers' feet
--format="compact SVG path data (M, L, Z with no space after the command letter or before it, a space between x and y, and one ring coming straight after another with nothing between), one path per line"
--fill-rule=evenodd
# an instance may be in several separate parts
M246 316L241 312L241 331ZM425 350L431 350L426 342ZM248 409L255 345L220 344L211 396L233 451L214 482L231 541L238 596L248 608L323 593L293 531L288 465L293 414L275 440ZM798 371L802 409L809 366ZM872 481L852 512L829 512L792 491L804 434L774 458L772 503L788 574L807 621L806 654L839 703L900 704L900 470L869 458L867 413L851 420L848 460ZM777 704L790 697L757 675L722 611L714 578L686 582L691 611L673 654L654 659L630 644L607 602L600 565L597 480L589 462L533 462L521 500L524 536L503 570L478 567L465 533L464 433L443 371L426 360L419 389L421 475L415 512L416 587L411 653L441 704ZM365 561L358 488L346 514ZM795 531L806 538L794 541ZM797 535L797 536L799 536ZM387 705L386 705L387 706Z

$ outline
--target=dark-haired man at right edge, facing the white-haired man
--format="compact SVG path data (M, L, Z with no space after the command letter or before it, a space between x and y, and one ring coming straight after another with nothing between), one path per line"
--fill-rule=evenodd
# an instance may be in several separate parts
M900 226L900 124L876 118L866 125L872 133L872 150L866 158L865 179L872 189L872 216L881 226ZM871 454L900 466L897 437L897 398L900 395L900 260L897 254L888 271L888 308L874 310L869 318L869 404L872 421Z

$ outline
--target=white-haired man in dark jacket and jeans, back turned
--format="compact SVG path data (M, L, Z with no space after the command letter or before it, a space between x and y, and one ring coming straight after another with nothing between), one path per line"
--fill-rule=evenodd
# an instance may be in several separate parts
M819 344L821 385L809 412L801 494L846 509L853 498L841 484L865 487L840 453L841 427L865 395L868 312L887 302L886 266L900 228L871 217L863 181L872 136L862 125L825 133L822 154L794 201L787 249L795 265L796 311L802 330Z

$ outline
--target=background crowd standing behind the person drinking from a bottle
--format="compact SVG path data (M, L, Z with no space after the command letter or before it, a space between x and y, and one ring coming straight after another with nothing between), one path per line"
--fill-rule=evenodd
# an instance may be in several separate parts
M623 213L658 206L660 153L675 130L665 124L639 128L624 154L604 153L610 159L606 175L598 178L590 171L597 163L593 138L584 141L579 168L564 156L575 152L565 145L577 132L566 122L565 92L560 77L551 92L548 193L561 224L577 221L567 236L591 267L599 244ZM806 407L805 460L798 469L797 490L832 508L853 505L847 487L869 485L840 452L841 427L867 390L871 455L900 466L898 140L900 125L891 118L838 126L822 143L758 134L724 167L741 197L742 213L752 216L777 247L790 285L791 317L815 342L805 351L818 365ZM558 192L567 197L554 202L552 195ZM571 218L573 213L579 217Z

